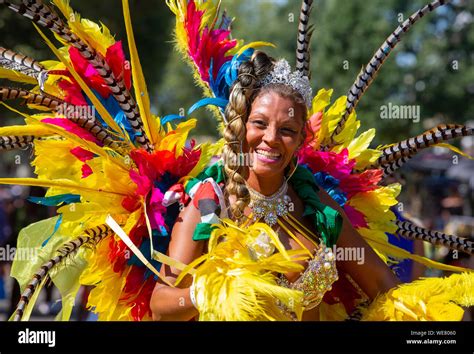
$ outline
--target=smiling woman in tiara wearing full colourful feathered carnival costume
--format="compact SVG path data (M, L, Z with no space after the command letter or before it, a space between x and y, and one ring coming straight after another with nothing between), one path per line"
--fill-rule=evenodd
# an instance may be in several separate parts
M302 2L293 71L256 50L269 43L232 39L220 1L167 0L177 48L206 96L188 115L213 105L221 123L223 139L201 145L187 141L196 119L153 114L127 0L130 61L105 26L53 3L0 0L63 46L38 27L57 61L0 49L0 75L32 86L1 88L1 99L41 110L0 128L0 150L34 144L38 178L0 183L48 188L35 202L60 206L20 233L18 247L40 254L15 259L23 291L15 320L28 319L49 277L63 320L80 285L92 287L87 307L101 320L446 320L474 304L469 270L412 255L386 234L465 253L472 242L397 216L401 186L382 181L433 141L472 129L441 126L380 149L369 149L374 129L356 136L355 106L383 61L441 1L401 24L348 97L330 104L332 90L314 96L310 85L312 1ZM387 264L403 258L465 274L400 286Z

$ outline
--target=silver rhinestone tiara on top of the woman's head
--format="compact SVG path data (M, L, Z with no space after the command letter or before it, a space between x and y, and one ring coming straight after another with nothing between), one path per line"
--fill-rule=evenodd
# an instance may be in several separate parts
M309 84L307 76L303 76L300 71L291 72L290 64L285 59L280 59L275 63L273 70L263 78L262 86L269 84L284 84L299 92L308 108L311 108L313 101L313 90Z

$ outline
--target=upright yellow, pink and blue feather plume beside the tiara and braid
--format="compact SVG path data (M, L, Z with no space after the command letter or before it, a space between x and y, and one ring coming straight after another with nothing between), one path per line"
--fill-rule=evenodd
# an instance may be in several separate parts
M166 4L176 16L174 32L177 50L193 69L196 84L207 98L228 99L228 90L236 79L240 62L248 60L258 46L271 45L266 42L242 41L231 38L231 20L224 12L219 14L220 1L167 0ZM216 27L218 18L220 26ZM247 51L247 52L246 52ZM214 105L208 101L208 104ZM220 121L223 130L223 110L208 106Z

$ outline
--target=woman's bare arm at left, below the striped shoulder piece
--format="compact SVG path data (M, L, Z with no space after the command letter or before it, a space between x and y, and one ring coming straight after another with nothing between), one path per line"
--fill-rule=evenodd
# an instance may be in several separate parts
M173 227L168 256L184 264L189 264L203 253L204 241L196 242L192 239L194 229L200 220L199 210L193 203L189 203L181 211ZM171 284L174 284L180 270L163 264L160 273ZM188 321L198 315L189 295L191 283L192 278L189 275L177 288L157 282L150 300L153 320Z

